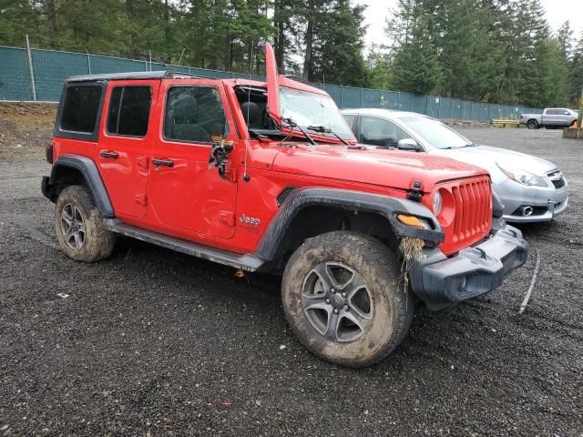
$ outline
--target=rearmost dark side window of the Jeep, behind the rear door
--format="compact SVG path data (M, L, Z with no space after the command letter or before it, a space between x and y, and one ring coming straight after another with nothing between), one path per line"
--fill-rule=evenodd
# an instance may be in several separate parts
M67 86L60 128L92 134L96 128L101 86Z

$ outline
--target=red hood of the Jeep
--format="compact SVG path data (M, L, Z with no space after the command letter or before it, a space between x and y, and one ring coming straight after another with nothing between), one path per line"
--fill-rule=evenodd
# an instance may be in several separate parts
M329 145L284 148L275 157L273 170L400 189L419 180L424 191L438 182L487 175L483 168L425 153Z

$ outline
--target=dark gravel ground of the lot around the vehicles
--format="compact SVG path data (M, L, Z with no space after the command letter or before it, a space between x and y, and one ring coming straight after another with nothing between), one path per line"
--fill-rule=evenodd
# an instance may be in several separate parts
M39 189L50 131L14 127L0 118L22 144L0 157L0 436L583 436L583 142L461 129L569 180L570 211L522 228L541 255L527 311L534 256L355 371L304 351L275 279L128 239L98 264L66 259Z

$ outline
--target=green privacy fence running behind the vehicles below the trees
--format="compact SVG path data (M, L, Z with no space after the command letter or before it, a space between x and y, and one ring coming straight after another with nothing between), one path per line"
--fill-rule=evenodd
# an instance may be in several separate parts
M248 78L249 75L190 66L167 66L147 60L124 59L84 53L31 49L30 63L25 48L0 46L0 100L56 102L66 77L130 71L173 69L180 73L218 78ZM31 77L32 74L32 77ZM261 76L252 76L262 80ZM517 118L521 113L541 113L533 107L514 107L470 102L455 98L420 96L398 91L316 84L326 90L339 107L382 107L414 111L431 117L488 121L492 118Z

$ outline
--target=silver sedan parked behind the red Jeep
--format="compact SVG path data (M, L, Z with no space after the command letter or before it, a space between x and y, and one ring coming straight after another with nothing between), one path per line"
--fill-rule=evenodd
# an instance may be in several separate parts
M477 145L439 120L414 112L345 109L364 145L396 147L486 168L510 222L552 220L568 207L568 185L553 163L504 148Z

